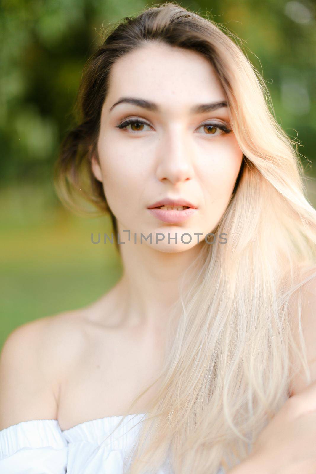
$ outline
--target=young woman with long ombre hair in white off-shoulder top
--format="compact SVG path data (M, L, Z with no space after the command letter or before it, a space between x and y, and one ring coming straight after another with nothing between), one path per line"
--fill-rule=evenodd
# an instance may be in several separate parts
M268 97L176 3L108 32L55 183L109 212L124 273L6 340L1 473L315 472L316 212Z

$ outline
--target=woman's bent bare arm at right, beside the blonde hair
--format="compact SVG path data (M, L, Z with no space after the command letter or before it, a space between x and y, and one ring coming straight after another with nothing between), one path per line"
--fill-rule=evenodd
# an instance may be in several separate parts
M292 304L293 336L299 346L297 295ZM316 278L302 287L301 324L311 383L307 385L305 374L298 371L289 387L291 397L262 430L258 453L227 474L316 474Z

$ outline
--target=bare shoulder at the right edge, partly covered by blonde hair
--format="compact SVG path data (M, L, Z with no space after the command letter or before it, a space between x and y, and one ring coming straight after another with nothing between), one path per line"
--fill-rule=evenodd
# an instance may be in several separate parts
M315 273L315 275L314 275ZM306 346L307 364L310 370L310 383L316 381L316 268L308 272L312 276L307 283L301 287L293 298L294 310L291 314L293 337L298 347L301 347L300 334ZM299 323L299 310L301 311ZM293 377L290 386L290 395L303 391L310 383L307 383L306 375L300 365L300 369Z

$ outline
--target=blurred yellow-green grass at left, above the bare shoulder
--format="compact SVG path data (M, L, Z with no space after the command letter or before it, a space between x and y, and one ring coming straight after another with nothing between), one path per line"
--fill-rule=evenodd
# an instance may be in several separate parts
M29 192L0 197L0 347L27 321L96 300L122 272L115 245L102 243L103 234L112 232L108 217L77 217L45 199L40 207L38 192L33 200ZM92 244L91 233L97 240L99 232L100 243Z

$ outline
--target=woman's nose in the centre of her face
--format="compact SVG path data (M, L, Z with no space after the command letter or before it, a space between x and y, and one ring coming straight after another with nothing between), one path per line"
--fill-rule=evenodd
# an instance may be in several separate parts
M158 149L156 176L160 181L172 184L190 181L193 177L192 150L181 130L172 131L162 138L163 144Z

